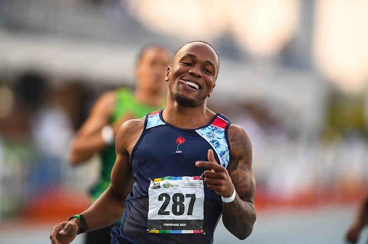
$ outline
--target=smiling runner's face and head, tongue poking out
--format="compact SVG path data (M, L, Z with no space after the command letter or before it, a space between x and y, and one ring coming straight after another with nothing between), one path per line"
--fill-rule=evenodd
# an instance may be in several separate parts
M218 57L208 44L184 45L173 58L165 81L173 98L182 106L203 104L212 93L218 72Z

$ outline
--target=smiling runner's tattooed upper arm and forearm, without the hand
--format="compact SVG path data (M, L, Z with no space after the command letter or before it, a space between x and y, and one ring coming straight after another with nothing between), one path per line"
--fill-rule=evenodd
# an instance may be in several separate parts
M230 203L222 203L222 220L225 227L237 238L245 239L252 233L256 221L256 181L252 170L252 144L245 130L236 125L229 128L229 142L231 157L227 170L237 196Z

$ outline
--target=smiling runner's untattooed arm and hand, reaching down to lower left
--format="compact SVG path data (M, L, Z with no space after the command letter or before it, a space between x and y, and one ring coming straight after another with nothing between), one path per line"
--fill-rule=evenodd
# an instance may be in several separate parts
M116 161L111 172L111 184L105 192L84 212L87 231L104 228L119 220L125 210L125 199L131 193L134 183L130 155L139 138L144 120L128 121L122 125L116 137ZM51 229L53 244L70 243L81 230L77 218L59 223Z

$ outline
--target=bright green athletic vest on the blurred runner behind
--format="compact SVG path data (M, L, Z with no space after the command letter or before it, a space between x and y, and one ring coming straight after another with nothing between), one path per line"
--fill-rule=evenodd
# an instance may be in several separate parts
M162 104L162 106L148 106L137 101L134 97L134 93L130 89L116 89L115 96L116 103L109 121L110 124L120 120L128 113L133 113L135 118L142 118L147 113L164 107L164 104ZM106 146L105 149L101 151L100 157L102 162L100 180L91 190L93 201L99 198L110 185L111 170L116 160L115 143Z

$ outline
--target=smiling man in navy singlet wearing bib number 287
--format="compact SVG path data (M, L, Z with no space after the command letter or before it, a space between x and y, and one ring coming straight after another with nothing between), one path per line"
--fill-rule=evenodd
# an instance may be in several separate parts
M212 243L221 214L237 238L250 235L256 220L252 145L243 128L206 107L218 69L210 44L179 48L165 76L166 108L121 126L110 186L81 215L55 225L52 243L70 243L124 210L112 244Z

